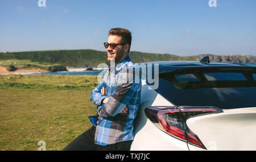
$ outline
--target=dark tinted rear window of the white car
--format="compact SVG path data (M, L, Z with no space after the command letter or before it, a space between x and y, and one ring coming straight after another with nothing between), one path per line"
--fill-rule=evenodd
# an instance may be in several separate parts
M159 74L155 91L174 105L256 107L255 69L189 70Z

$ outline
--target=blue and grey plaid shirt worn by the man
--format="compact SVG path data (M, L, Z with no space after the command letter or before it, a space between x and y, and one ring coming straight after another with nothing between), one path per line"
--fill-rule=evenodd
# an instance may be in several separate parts
M90 100L97 106L96 116L88 117L96 126L94 142L102 146L134 139L134 118L141 98L141 76L129 56L110 66L104 78L93 89ZM105 87L106 96L101 88ZM101 101L109 97L105 104ZM127 113L121 113L127 106Z

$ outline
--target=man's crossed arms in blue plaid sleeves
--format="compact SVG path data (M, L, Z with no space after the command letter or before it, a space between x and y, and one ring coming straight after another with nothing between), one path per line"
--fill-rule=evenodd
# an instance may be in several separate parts
M91 101L98 109L97 112L102 117L114 117L119 113L127 113L129 110L127 104L137 91L138 84L129 82L129 77L134 75L134 71L125 69L118 77L118 84L113 92L113 95L105 96L106 82L102 82L93 89L91 93Z

